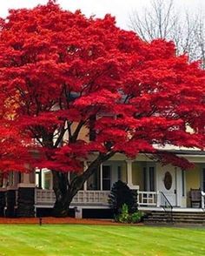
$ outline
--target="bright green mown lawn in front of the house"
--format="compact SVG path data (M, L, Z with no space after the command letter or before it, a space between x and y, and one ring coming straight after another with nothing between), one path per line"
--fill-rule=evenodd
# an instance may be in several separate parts
M205 229L0 225L0 255L205 255Z

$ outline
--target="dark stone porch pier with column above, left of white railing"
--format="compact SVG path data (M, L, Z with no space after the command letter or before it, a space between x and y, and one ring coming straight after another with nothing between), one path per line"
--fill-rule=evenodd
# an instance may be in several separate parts
M23 182L18 184L17 217L35 216L35 170L23 173Z

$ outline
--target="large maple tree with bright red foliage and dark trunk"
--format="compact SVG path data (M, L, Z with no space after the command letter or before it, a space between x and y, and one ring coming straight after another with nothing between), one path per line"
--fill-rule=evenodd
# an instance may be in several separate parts
M114 17L87 18L55 1L10 10L0 25L0 167L49 168L57 216L117 152L186 168L155 145L204 148L205 73L176 57L173 43L145 43ZM85 128L89 141L79 137Z

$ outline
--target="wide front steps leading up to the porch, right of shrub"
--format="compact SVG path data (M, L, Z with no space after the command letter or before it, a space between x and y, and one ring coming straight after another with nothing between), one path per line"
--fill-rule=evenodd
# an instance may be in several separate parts
M170 212L147 212L144 219L146 224L167 224L170 222ZM172 222L177 225L205 226L205 212L172 212Z

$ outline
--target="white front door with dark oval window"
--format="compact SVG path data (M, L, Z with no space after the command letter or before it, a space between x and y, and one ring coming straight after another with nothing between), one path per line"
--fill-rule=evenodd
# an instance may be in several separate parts
M158 168L159 191L163 192L169 203L176 205L176 171L175 167L167 165Z

